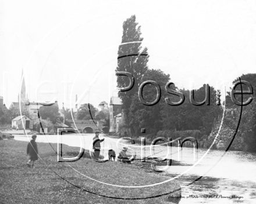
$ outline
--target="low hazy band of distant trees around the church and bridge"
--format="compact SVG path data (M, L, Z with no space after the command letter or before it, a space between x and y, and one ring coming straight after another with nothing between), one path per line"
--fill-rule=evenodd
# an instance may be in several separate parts
M102 101L98 107L95 108L93 104L82 104L77 112L72 112L69 108L62 110L63 116L61 116L58 105L41 106L38 109L38 114L30 114L29 110L25 105L21 105L22 110L20 111L15 106L9 108L0 108L0 126L1 128L16 128L11 127L12 119L17 116L24 115L33 121L33 129L39 130L40 128L54 128L56 123L65 123L67 126L71 126L68 119L79 119L79 120L102 120L105 122L105 126L109 127L109 107L108 103ZM88 109L90 107L90 111ZM20 113L21 112L21 113ZM73 115L73 118L72 118Z

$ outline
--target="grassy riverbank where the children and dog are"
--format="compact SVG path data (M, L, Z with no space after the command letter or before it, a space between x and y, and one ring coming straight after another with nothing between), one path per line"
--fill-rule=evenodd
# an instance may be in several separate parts
M26 146L23 141L0 141L0 203L170 203L168 197L180 196L176 181L144 188L116 187L151 185L170 177L120 162L97 163L88 152L79 161L60 163L56 161L56 144L38 143L42 160L30 169L26 166ZM77 147L63 145L67 157L78 152ZM166 195L158 196L162 194ZM158 197L131 199L154 196Z

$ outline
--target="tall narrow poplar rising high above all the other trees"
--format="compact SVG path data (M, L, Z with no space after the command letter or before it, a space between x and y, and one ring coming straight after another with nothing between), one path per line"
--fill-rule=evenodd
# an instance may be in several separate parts
M134 94L137 94L138 85L142 82L143 75L148 70L148 54L147 48L141 47L143 38L141 37L140 26L136 22L136 16L131 16L123 23L123 36L122 45L119 46L118 50L118 67L116 71L126 71L134 77L134 87L127 92L119 92L119 97L122 99L123 109L123 120L124 123L129 126L128 128L133 129L130 126L130 105ZM130 43L129 43L130 42ZM139 42L139 43L135 43ZM138 55L143 54L143 55ZM125 88L129 85L130 81L127 77L118 77L118 88Z

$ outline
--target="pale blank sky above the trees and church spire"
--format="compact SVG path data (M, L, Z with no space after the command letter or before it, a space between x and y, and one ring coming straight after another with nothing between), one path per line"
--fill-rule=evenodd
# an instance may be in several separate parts
M77 94L79 104L109 103L122 24L133 14L149 68L170 74L179 88L229 88L256 72L255 1L1 1L6 106L17 101L22 69L30 101L70 108Z

